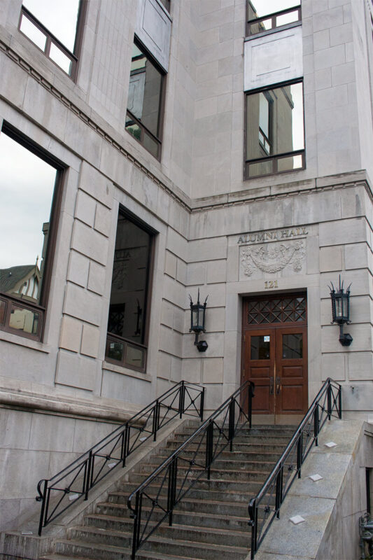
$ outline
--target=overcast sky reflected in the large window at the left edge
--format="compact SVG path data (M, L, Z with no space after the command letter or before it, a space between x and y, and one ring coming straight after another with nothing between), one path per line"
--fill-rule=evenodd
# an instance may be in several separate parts
M56 170L0 134L0 269L41 262Z

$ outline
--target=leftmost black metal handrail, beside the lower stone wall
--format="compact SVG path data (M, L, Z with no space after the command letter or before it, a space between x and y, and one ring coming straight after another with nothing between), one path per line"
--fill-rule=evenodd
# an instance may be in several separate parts
M124 467L126 458L150 437L156 441L158 430L167 426L176 416L197 416L202 421L203 413L204 387L180 381L57 475L39 480L36 496L36 501L41 502L38 535L41 535L43 527L79 498L87 500L90 489L118 465Z

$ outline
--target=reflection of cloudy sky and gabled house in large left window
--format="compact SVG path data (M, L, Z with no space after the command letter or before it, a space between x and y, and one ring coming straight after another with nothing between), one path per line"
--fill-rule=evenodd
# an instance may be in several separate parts
M0 154L0 292L40 303L56 169L3 132ZM31 311L12 314L13 328L34 333Z

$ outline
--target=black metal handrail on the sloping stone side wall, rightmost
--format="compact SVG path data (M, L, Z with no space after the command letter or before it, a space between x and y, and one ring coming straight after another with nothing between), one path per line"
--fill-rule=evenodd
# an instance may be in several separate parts
M262 489L248 504L251 560L274 518L279 519L280 507L290 486L296 477L300 478L304 459L312 445L318 445L318 434L332 416L342 419L342 393L341 386L328 377Z

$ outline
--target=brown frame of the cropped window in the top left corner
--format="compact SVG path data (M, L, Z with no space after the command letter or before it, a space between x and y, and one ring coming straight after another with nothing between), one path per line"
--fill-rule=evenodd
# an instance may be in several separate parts
M57 66L57 68L59 68L66 76L69 76L69 78L71 78L71 80L73 80L73 82L76 82L76 79L78 78L78 66L79 66L80 50L81 50L81 46L82 46L82 42L83 42L83 27L84 27L86 12L87 12L87 0L79 0L78 18L76 20L76 33L75 33L74 48L73 48L73 52L71 52L71 50L69 50L67 47L65 47L64 43L62 43L62 41L59 41L59 39L48 30L48 27L45 27L45 25L43 25L43 23L40 20L38 20L38 18L36 18L34 16L34 14L31 13L31 11L28 8L26 8L26 6L23 6L23 4L22 4L21 5L21 10L20 10L20 19L18 21L18 31L20 31L20 33L24 37L26 37L27 40L30 41L30 43L32 43L40 52L43 52L43 54L53 64L55 64L55 66ZM29 36L27 36L27 34L25 34L21 30L22 18L24 18L24 17L27 18L27 20L29 20L35 27L37 27L37 29L39 31L41 31L45 35L45 48L44 48L44 50L41 49L38 45L36 45L36 43L34 43L34 41L32 41L32 39L29 38ZM62 53L67 58L69 58L71 60L71 72L70 73L64 71L62 66L57 64L57 62L55 62L50 57L50 46L52 45L52 43L55 43L57 45L57 48L59 48L59 50L61 50Z

